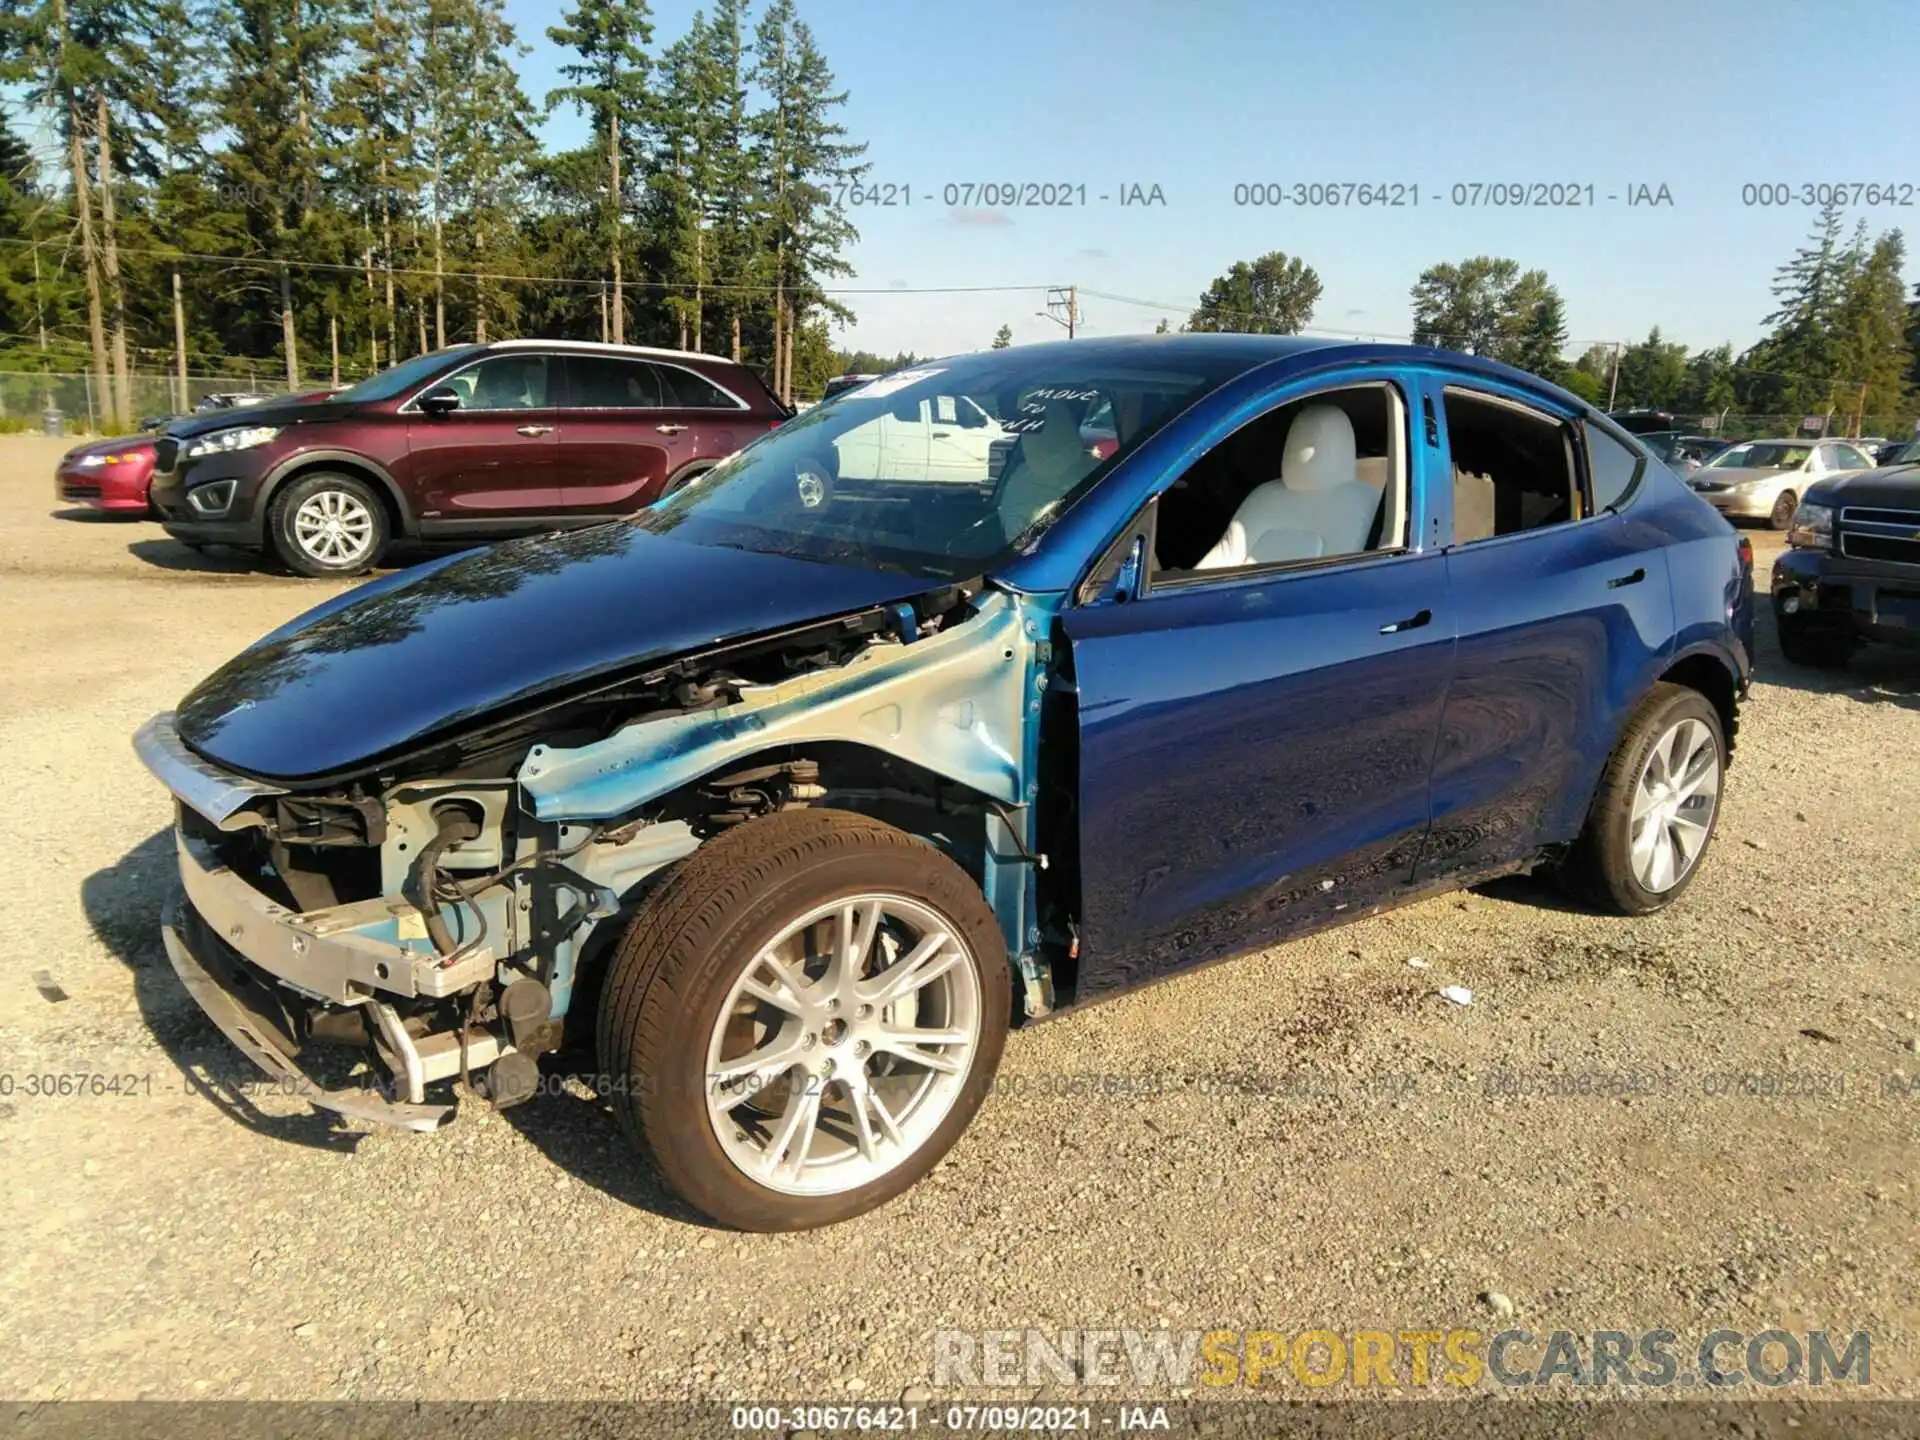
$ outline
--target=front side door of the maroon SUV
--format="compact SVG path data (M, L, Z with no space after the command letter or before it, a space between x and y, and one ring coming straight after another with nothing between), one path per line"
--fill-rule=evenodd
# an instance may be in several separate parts
M459 409L428 415L419 396L401 407L422 532L561 509L557 371L549 355L503 351L426 386L451 388Z

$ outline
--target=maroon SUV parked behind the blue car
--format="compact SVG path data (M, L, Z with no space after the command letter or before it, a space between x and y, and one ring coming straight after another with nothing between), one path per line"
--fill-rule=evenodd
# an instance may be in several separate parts
M188 545L357 574L388 543L490 540L651 505L789 417L745 365L564 340L455 346L351 390L196 415L152 501Z

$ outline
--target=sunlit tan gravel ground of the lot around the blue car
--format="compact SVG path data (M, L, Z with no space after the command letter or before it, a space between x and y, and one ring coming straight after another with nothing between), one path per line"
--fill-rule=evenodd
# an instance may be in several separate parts
M0 1396L893 1400L935 1329L1162 1325L1870 1331L1920 1396L1920 659L1766 632L1668 914L1503 883L1041 1025L902 1200L739 1236L584 1089L434 1137L244 1089L129 737L338 586L58 513L58 449L0 442ZM75 1073L125 1083L27 1092Z

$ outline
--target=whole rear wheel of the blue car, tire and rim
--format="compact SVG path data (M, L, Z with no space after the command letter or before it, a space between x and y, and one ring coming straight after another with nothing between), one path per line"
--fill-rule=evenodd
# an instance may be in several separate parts
M1699 874L1724 772L1718 710L1697 689L1655 685L1599 776L1561 877L1620 914L1667 908Z

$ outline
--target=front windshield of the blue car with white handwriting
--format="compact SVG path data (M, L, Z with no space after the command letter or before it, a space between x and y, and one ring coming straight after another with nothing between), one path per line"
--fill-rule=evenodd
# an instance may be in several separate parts
M637 524L964 580L1031 545L1119 457L1246 365L1044 346L897 371L787 420Z

